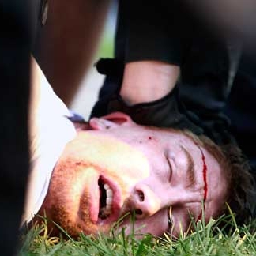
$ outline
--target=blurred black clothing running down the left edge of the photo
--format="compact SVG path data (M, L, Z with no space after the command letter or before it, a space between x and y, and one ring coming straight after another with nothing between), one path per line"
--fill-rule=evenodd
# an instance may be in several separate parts
M0 251L5 256L17 250L28 177L28 96L36 3L0 0Z

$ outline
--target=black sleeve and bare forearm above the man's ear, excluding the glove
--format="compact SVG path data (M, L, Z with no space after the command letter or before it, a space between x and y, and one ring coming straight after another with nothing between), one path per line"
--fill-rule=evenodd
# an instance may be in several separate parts
M126 24L125 69L120 95L127 104L159 100L177 84L183 61L183 17L176 1L157 5L130 0L120 16Z

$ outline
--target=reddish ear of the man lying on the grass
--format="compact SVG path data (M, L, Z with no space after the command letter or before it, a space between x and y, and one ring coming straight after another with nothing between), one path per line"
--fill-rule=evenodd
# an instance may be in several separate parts
M89 121L90 126L95 130L111 129L132 122L130 116L122 112L114 112L109 115L104 115L101 118L92 118Z

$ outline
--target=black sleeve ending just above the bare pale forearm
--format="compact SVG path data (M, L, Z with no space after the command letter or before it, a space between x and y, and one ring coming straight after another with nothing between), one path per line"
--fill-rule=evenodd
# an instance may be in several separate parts
M180 65L186 36L182 7L176 1L121 1L116 57L124 62L158 60Z

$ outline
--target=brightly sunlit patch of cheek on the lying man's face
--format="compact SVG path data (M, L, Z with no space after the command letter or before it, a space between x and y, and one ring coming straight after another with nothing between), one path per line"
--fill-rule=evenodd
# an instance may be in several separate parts
M106 175L122 176L122 179L130 180L131 183L149 176L149 161L140 150L114 137L92 134L80 136L83 143L79 151L76 150L74 153L78 159L96 164Z

